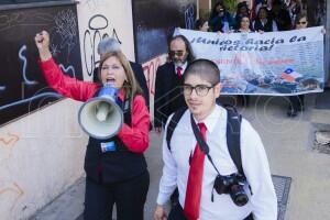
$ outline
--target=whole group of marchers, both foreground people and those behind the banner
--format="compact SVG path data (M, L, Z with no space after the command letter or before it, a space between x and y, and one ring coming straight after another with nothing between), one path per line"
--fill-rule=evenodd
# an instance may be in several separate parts
M258 2L255 18L245 2L238 4L235 14L218 2L208 20L196 21L196 29L231 33L307 28L299 0L271 2ZM52 57L46 31L36 34L35 44L47 84L63 96L87 101L108 82L119 90L122 129L111 139L90 136L88 141L84 218L111 219L116 204L117 219L143 220L150 185L143 154L150 145L151 127L141 65L129 62L117 41L103 38L94 81L86 82L63 74ZM277 219L263 143L248 120L218 103L220 75L213 62L195 59L185 36L169 38L168 62L158 67L155 80L154 130L163 133L164 161L155 220ZM290 101L288 116L304 110L304 97L294 96ZM238 132L231 132L233 124ZM235 153L231 147L237 147ZM174 202L167 215L169 200Z

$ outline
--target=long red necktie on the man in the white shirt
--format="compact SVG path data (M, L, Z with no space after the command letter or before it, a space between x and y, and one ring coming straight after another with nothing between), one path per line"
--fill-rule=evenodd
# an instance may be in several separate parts
M206 125L198 123L202 139L206 141ZM197 220L200 209L201 182L204 173L205 153L200 150L198 143L195 146L194 155L190 162L190 169L187 183L184 213L188 220Z

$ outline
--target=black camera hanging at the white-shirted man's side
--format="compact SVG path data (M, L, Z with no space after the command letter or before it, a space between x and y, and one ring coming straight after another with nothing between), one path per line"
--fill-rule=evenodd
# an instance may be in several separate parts
M244 183L245 177L241 174L218 175L213 187L219 195L229 194L233 202L242 207L249 201L249 197L244 190Z

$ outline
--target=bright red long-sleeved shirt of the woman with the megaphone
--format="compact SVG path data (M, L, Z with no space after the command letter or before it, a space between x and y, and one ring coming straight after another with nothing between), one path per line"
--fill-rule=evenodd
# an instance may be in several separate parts
M53 58L40 62L40 68L50 87L67 98L87 101L100 88L98 84L81 81L64 75ZM119 98L123 100L122 90L119 92ZM148 146L150 114L145 100L140 95L134 97L131 118L132 127L124 123L117 135L130 151L143 153Z

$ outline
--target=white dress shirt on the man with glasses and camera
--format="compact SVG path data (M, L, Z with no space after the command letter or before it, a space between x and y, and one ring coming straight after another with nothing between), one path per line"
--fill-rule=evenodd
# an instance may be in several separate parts
M204 123L207 127L207 144L216 167L221 175L237 173L238 169L227 147L227 110L216 106L210 116L204 120ZM179 204L184 207L189 174L189 156L193 154L195 146L196 139L190 124L190 112L187 110L173 133L170 152L166 143L166 133L164 134L164 167L157 197L158 205L165 205L175 188L178 187ZM249 187L245 187L245 193L250 197L249 202L243 207L238 207L230 195L219 195L216 190L213 190L215 200L213 202L211 201L217 172L206 157L200 200L200 220L242 220L251 212L255 220L277 219L277 199L267 156L258 134L244 119L242 119L241 123L241 155L244 174L253 193L251 196Z

